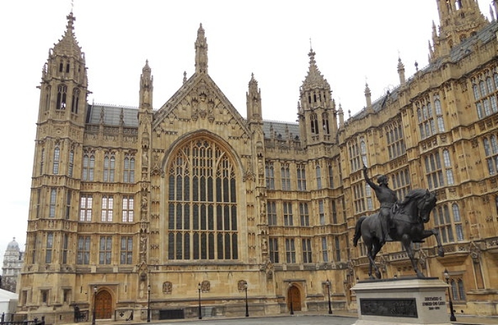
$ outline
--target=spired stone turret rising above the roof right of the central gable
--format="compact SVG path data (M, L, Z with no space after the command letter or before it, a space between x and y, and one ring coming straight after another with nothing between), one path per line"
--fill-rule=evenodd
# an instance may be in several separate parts
M313 49L309 50L309 70L300 88L298 118L302 141L306 146L334 142L337 112L329 82L318 70Z

